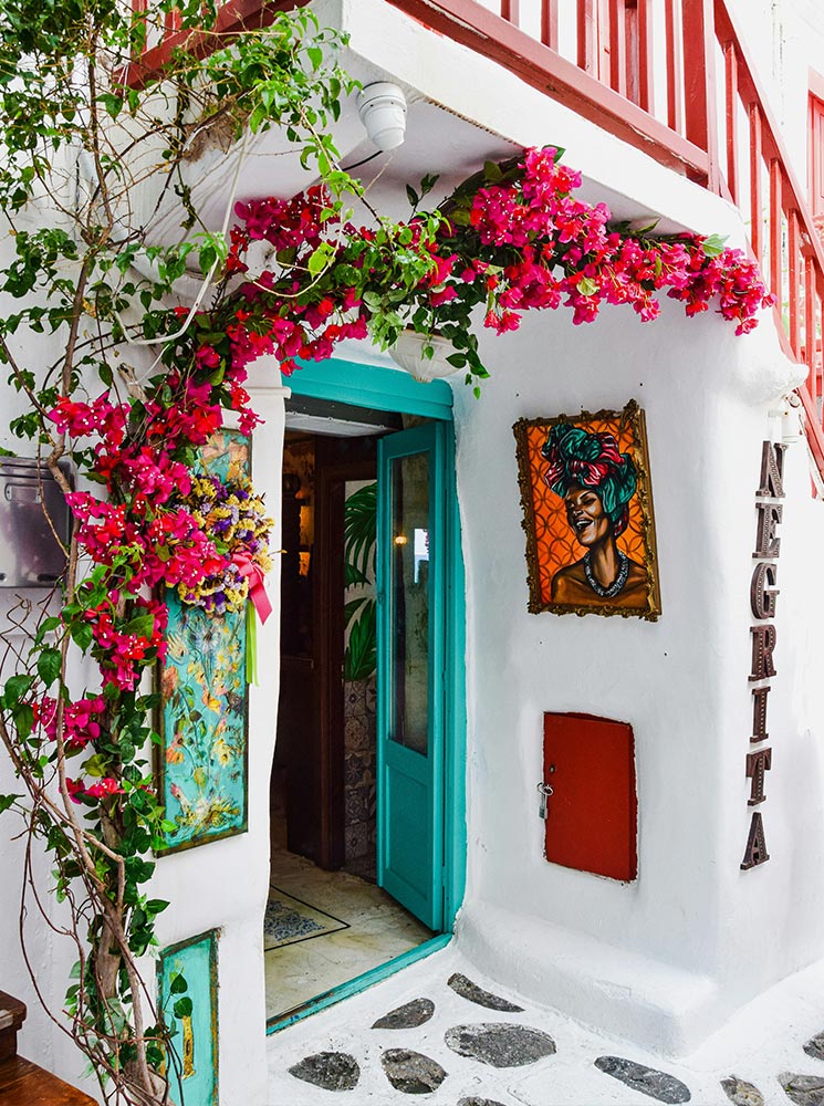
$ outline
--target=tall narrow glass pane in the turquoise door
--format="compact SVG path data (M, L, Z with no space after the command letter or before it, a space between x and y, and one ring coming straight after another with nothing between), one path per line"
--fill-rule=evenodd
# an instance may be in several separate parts
M429 455L392 462L392 726L424 757L429 717Z

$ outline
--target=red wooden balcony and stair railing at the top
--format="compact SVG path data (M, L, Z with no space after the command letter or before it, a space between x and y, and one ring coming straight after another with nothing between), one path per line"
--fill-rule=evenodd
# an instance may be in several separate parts
M131 81L145 81L173 45L205 52L306 2L231 0L208 36L167 32ZM727 0L387 2L739 207L778 300L783 348L807 368L799 395L824 478L824 249Z

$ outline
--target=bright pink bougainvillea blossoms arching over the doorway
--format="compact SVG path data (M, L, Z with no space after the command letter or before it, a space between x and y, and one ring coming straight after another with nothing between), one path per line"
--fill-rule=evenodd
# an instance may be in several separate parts
M77 589L72 629L97 660L102 693L66 701L62 714L54 699L33 705L48 737L56 737L58 717L70 752L105 737L112 697L136 692L163 656L166 608L147 597L158 584L218 613L242 601L244 576L215 522L222 515L197 505L204 484L191 462L225 410L247 434L260 421L244 385L262 355L289 374L301 361L328 358L347 338L371 334L390 345L411 326L445 334L456 347L450 361L474 383L486 375L476 320L505 334L528 311L569 307L578 325L608 304L629 305L649 322L667 295L690 316L715 307L744 334L772 303L739 250L698 234L655 238L614 226L604 204L575 195L580 186L581 174L545 148L486 166L440 212L416 210L393 227L342 221L322 188L238 205L220 294L191 320L181 306L157 322L155 333L165 326L171 335L166 371L144 396L124 401L111 388L93 399L61 395L49 413L102 489L75 491L69 502L80 552L105 574L107 593L101 598L93 582ZM271 248L271 268L253 271L255 242ZM267 538L255 538L261 550ZM173 741L167 755L176 754ZM114 775L67 786L77 801L123 793Z

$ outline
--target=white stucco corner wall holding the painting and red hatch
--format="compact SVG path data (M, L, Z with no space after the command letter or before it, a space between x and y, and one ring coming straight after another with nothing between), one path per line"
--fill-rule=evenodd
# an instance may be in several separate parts
M666 303L643 325L620 309L574 327L562 312L486 336L492 373L459 385L458 482L468 575L469 881L463 950L532 998L663 1052L689 1051L738 1005L824 952L822 693L810 646L824 597L814 557L824 507L805 447L786 459L771 860L742 872L749 818L749 587L770 390L790 379L764 316L750 337ZM645 408L663 616L657 623L526 611L511 426L582 407ZM629 722L638 878L543 858L535 785L542 712Z

